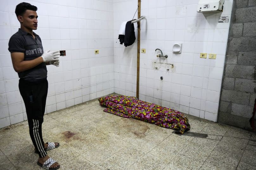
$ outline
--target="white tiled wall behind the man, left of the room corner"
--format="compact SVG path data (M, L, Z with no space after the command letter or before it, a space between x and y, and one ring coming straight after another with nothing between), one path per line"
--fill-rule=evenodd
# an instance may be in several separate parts
M47 66L47 113L114 92L112 0L0 0L0 128L27 119L8 51L20 27L14 13L20 2L37 6L35 33L44 50L67 53L60 67Z

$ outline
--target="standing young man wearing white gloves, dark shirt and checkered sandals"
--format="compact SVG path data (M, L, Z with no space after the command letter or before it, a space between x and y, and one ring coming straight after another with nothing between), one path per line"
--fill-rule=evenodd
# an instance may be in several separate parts
M59 143L44 143L42 123L48 92L46 65L59 66L59 51L43 51L41 38L33 32L37 29L37 7L20 3L15 13L21 27L9 41L9 51L14 70L19 75L19 90L25 103L29 134L39 159L37 164L45 169L55 170L59 163L47 155L46 150L54 149Z

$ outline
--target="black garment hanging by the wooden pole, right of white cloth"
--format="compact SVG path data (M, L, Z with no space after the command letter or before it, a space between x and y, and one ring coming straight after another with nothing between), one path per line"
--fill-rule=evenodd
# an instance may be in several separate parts
M128 21L125 26L125 47L130 46L135 41L134 24Z

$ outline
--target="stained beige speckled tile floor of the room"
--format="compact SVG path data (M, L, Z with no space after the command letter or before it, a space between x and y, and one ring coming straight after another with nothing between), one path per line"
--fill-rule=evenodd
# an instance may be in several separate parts
M256 169L256 134L191 115L184 135L103 112L97 100L44 116L60 169ZM207 135L205 135L207 134ZM0 169L42 169L28 122L0 129Z

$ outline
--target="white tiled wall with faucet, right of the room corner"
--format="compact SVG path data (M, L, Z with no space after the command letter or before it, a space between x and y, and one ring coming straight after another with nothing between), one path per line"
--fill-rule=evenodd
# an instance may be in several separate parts
M131 20L137 0L114 1L114 91L136 96L137 44L119 44L122 21ZM181 112L217 121L221 80L229 24L218 23L221 15L230 19L233 0L226 0L223 12L197 13L198 0L141 0L139 99ZM135 15L135 18L137 14ZM137 24L135 24L137 26ZM135 33L137 36L137 32ZM182 53L172 53L174 43L182 43ZM157 58L161 49L168 58ZM216 59L200 58L200 53L217 54ZM166 64L174 64L167 71ZM160 80L163 76L163 80Z

